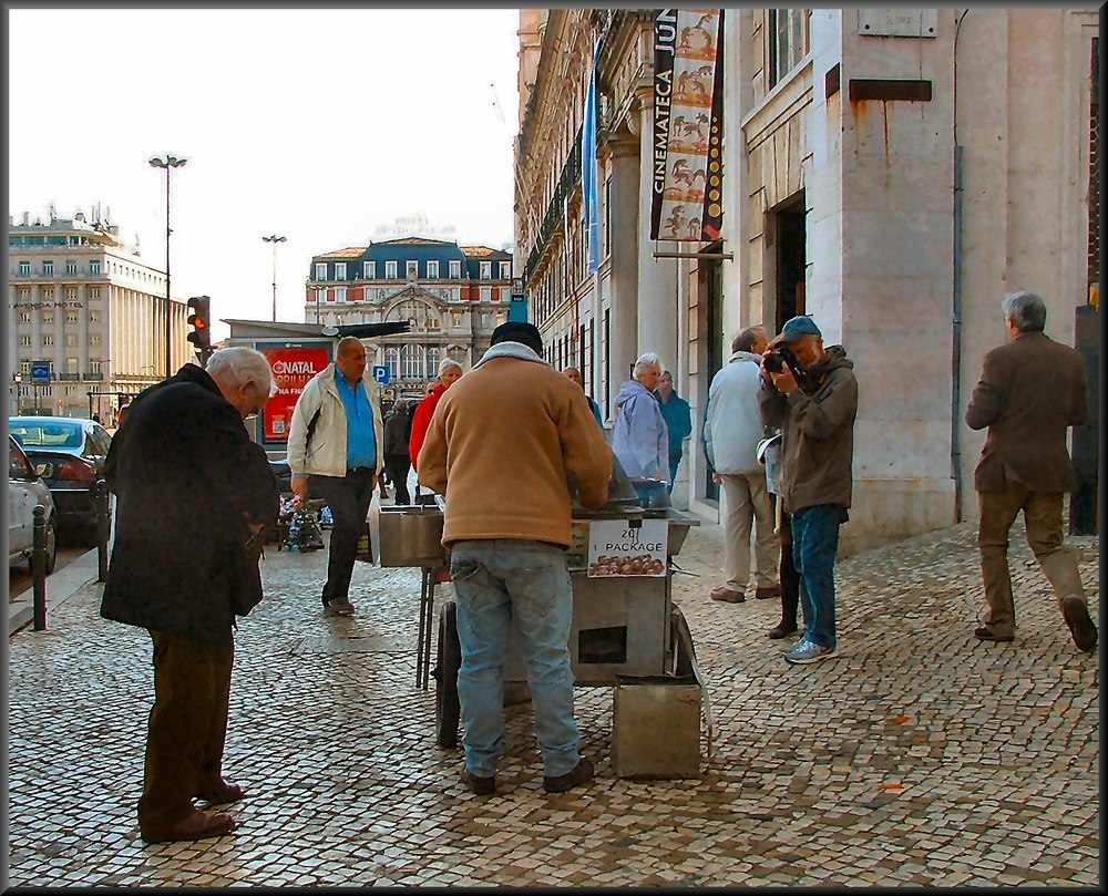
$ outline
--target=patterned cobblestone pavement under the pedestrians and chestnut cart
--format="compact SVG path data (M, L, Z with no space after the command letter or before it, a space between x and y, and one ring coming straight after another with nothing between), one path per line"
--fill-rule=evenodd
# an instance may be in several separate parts
M1094 616L1097 538L1071 539ZM972 636L973 528L839 566L840 649L792 667L779 601L717 604L718 526L674 579L721 724L699 780L614 776L613 689L576 689L597 780L542 790L530 704L500 791L458 781L414 687L419 573L358 566L352 619L318 609L324 553L270 550L243 621L225 771L239 830L144 846L150 640L100 587L11 645L13 885L1064 885L1098 877L1098 653L1074 647L1022 537L1014 643ZM440 587L448 591L449 586ZM441 600L441 595L438 598Z

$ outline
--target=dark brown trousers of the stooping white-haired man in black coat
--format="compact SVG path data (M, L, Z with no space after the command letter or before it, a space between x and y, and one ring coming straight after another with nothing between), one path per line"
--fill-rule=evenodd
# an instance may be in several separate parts
M218 790L235 641L201 641L150 629L154 706L138 825L162 831L193 812L193 797Z

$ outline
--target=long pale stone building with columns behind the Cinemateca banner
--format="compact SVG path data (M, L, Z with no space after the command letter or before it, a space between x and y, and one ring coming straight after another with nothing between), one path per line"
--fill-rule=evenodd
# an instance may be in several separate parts
M1097 11L727 9L714 244L649 237L653 18L520 13L515 249L551 360L579 367L611 418L630 362L656 351L699 428L731 334L810 313L860 385L844 550L975 517L984 433L963 415L1005 339L1001 299L1040 293L1048 334L1073 344L1098 278ZM581 145L596 40L593 275ZM719 512L696 435L675 498Z

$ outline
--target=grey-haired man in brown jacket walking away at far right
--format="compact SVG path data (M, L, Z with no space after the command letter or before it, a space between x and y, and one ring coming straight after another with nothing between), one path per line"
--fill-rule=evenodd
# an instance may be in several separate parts
M1046 305L1034 292L1013 292L1001 303L1007 344L985 356L970 406L971 430L988 426L974 473L981 503L977 546L987 609L974 635L1010 641L1016 620L1008 575L1008 529L1020 511L1030 545L1058 598L1080 650L1097 646L1073 548L1063 543L1061 506L1077 485L1066 430L1085 422L1085 362L1049 339Z

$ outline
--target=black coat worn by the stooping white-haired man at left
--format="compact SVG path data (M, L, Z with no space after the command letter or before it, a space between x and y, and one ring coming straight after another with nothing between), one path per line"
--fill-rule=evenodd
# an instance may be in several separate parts
M117 496L101 615L206 641L261 599L248 521L268 523L277 484L263 449L208 373L185 364L127 408L105 462Z

